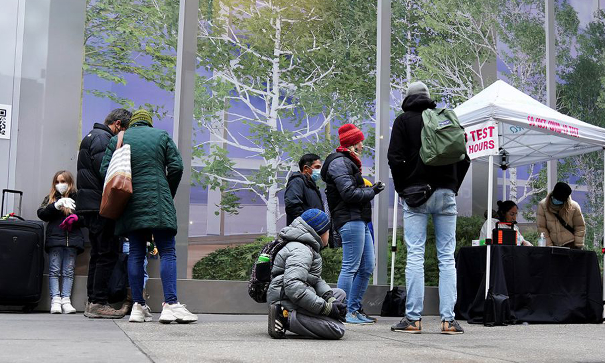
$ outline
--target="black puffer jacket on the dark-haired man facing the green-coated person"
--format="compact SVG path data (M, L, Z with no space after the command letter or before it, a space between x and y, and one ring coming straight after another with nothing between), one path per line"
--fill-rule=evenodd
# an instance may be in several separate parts
M80 144L77 156L76 211L80 213L99 213L103 195L103 177L99 170L103 154L114 134L108 126L95 123Z

